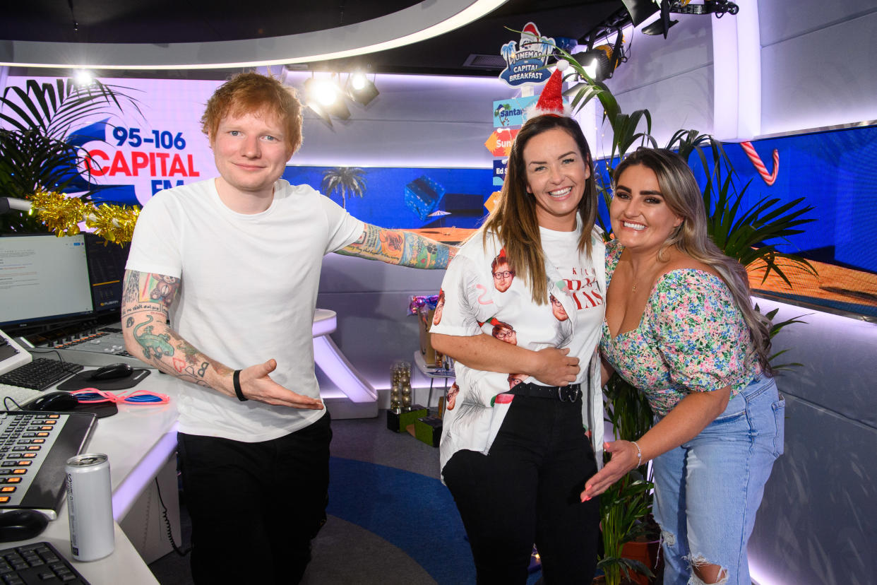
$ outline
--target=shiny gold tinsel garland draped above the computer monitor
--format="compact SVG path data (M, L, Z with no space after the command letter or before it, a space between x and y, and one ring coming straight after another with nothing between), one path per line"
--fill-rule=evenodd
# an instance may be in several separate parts
M30 200L31 213L36 214L39 221L59 238L79 233L79 224L84 220L96 235L124 244L131 241L140 213L139 207L108 203L95 206L79 197L67 197L53 191L38 191Z

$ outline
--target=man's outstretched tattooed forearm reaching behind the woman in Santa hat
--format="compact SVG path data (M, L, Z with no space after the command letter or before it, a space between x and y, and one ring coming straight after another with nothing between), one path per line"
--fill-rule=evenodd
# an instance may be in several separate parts
M414 232L385 230L377 225L366 224L360 239L338 253L410 268L447 268L457 248Z

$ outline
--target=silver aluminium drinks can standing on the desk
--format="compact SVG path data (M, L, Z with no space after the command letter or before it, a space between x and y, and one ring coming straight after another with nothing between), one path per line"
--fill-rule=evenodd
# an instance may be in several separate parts
M98 560L116 546L112 519L110 459L85 453L67 460L70 548L75 560Z

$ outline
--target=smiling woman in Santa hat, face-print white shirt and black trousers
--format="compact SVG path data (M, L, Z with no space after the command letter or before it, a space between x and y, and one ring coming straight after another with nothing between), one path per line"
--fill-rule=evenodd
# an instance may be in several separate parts
M563 115L560 85L556 71L540 115L518 132L501 199L449 266L431 328L432 346L456 360L442 478L480 584L525 583L534 543L549 585L588 583L597 562L599 506L579 495L602 461L604 247L588 143ZM499 292L491 262L503 250L515 279ZM572 291L582 287L601 302L580 307ZM552 296L567 320L554 317ZM515 324L517 344L491 336L496 322ZM524 382L510 384L512 373Z

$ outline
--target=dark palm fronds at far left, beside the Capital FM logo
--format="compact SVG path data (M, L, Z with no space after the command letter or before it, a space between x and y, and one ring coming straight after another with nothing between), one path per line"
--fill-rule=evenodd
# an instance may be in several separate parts
M88 119L109 118L122 104L139 112L126 88L93 82L78 85L69 79L10 86L0 97L0 196L24 199L43 190L63 191L75 179L75 169L95 165L77 146L74 132ZM89 161L91 165L84 165ZM90 191L81 196L88 199ZM32 216L0 216L0 232L45 232Z

